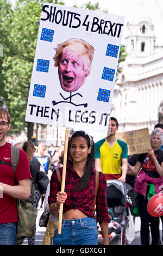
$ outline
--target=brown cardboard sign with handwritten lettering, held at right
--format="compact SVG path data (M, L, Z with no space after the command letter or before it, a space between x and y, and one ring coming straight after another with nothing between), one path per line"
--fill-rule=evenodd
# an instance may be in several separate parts
M118 132L116 133L116 137L127 143L128 155L147 153L148 149L151 148L148 128Z

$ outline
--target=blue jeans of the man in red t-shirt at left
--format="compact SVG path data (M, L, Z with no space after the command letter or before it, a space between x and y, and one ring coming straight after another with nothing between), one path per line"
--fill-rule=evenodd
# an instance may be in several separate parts
M0 224L0 245L15 245L17 222Z

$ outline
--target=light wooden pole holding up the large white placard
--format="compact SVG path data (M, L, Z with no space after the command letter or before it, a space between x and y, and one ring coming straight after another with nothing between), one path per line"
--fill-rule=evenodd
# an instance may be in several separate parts
M69 135L69 128L66 128L65 147L64 147L64 163L63 163L62 182L61 182L61 192L64 192L64 191L65 191L66 164L67 164L67 149L68 149L68 135ZM63 203L60 203L60 208L59 208L59 221L58 221L58 234L59 234L59 235L61 234L63 207L64 207L64 204L63 204Z

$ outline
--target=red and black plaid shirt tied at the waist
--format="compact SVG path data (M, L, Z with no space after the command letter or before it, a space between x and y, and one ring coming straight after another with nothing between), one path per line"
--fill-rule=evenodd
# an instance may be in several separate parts
M59 168L60 174L62 176L62 168ZM88 217L95 218L95 211L93 209L93 203L95 198L95 169L91 170L91 178L89 184L83 188L83 190L77 191L79 184L79 175L76 170L72 168L70 164L67 164L66 169L66 179L65 179L65 192L67 194L67 199L64 203L63 212L70 209L79 209L84 212ZM50 182L50 193L48 197L48 203L56 203L57 192L61 190L61 185L58 182L57 174L54 171L51 176ZM96 211L98 222L110 222L108 216L108 206L106 201L106 179L102 172L99 172L99 185L96 198Z

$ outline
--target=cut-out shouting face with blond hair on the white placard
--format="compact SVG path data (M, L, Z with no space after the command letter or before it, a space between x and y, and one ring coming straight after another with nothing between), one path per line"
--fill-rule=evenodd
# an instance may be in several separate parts
M55 49L54 60L55 66L58 66L61 88L66 92L75 92L83 86L90 73L94 49L81 39L70 39L58 48Z

